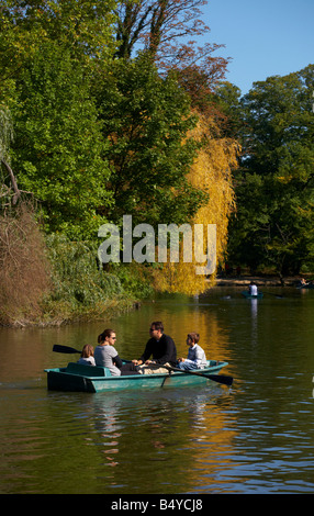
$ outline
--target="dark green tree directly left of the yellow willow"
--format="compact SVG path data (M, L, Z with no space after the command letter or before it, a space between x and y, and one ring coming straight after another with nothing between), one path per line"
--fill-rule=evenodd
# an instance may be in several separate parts
M176 77L160 78L145 55L119 59L103 79L100 110L114 200L105 216L117 221L131 214L135 223L149 224L189 221L204 199L187 179L199 147L188 133L198 119Z

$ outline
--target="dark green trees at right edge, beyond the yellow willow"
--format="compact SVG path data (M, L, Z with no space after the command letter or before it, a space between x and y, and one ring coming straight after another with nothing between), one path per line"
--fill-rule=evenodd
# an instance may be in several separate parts
M283 276L313 263L314 66L256 82L242 99L231 258Z

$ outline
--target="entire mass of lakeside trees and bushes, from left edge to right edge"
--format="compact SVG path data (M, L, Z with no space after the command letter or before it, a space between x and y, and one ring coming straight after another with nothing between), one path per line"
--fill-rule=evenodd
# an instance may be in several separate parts
M208 288L194 262L100 263L100 226L126 214L216 224L220 265L311 269L313 66L242 98L220 45L197 44L202 3L2 2L0 324Z

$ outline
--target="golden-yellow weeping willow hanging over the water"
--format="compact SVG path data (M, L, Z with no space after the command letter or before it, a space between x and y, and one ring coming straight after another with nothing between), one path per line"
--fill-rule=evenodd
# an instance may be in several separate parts
M216 261L218 263L224 259L228 218L235 210L232 170L237 167L239 145L234 139L221 136L214 119L205 120L202 115L193 130L193 136L202 141L204 145L191 167L189 181L208 193L208 202L197 212L194 218L189 221L189 224L192 229L194 224L203 225L202 251L204 255L209 245L208 224L216 225ZM194 240L193 237L192 242ZM190 262L183 260L183 242L180 242L178 262L171 262L168 254L167 263L155 272L157 290L195 295L214 283L215 272L210 276L210 282L205 274L197 274L197 266L205 266L206 261L197 262L194 250L193 248L193 259Z

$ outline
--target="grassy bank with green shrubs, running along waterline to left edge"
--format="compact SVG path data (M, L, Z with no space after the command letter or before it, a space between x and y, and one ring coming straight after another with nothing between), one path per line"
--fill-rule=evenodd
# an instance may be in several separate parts
M69 242L61 235L45 238L46 281L36 303L29 282L29 298L23 303L2 304L2 326L51 326L79 321L97 321L137 306L153 295L149 270L136 263L112 265L108 270L97 261L97 243ZM38 269L38 265L36 265ZM40 271L38 271L40 273ZM43 283L41 271L41 282ZM27 301L29 299L29 301Z

